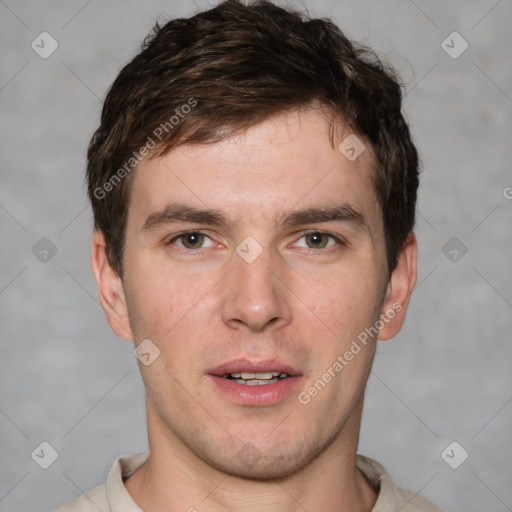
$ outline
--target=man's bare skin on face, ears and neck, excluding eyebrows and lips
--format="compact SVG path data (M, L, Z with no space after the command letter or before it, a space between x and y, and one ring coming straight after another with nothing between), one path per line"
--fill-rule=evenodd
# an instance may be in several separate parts
M125 481L144 510L358 512L375 503L378 490L355 456L377 338L307 405L297 394L397 303L401 311L378 338L398 333L416 282L416 240L411 233L389 275L371 151L351 162L337 148L350 132L340 127L333 147L328 130L318 111L294 111L141 162L123 281L102 233L94 236L92 267L112 329L135 345L149 338L161 352L139 363L151 455ZM176 201L219 210L229 223L143 229ZM280 223L291 211L335 204L357 211L365 226ZM200 237L175 238L186 230L207 235L202 248ZM304 234L317 231L327 234ZM248 236L263 249L252 263L236 252ZM233 359L273 357L304 376L277 405L234 404L207 376ZM247 443L258 450L254 465L238 454Z

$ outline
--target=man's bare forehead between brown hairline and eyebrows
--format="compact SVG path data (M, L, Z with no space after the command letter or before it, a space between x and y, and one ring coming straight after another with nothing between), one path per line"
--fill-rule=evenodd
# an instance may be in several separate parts
M373 216L373 156L365 148L354 159L354 137L338 125L332 144L326 116L306 110L220 142L181 145L139 164L130 210L147 216L179 200L223 210L227 217L275 220L295 207L347 203Z

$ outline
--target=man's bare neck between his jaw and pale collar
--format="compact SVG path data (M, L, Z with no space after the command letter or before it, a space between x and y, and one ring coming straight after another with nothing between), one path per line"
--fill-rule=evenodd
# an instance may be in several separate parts
M370 512L377 492L356 468L362 401L330 444L307 466L279 479L229 475L200 459L148 408L150 458L126 481L145 511L252 510Z

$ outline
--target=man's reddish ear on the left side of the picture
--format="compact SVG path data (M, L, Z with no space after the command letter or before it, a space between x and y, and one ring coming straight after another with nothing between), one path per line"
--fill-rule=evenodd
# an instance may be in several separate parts
M108 261L105 235L101 231L96 231L92 240L91 266L110 327L120 338L131 340L133 336L123 283Z

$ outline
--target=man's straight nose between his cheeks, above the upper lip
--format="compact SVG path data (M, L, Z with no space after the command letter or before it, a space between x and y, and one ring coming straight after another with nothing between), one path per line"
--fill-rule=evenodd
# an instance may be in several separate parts
M286 286L285 264L264 250L252 262L237 253L226 276L222 318L232 329L262 332L279 329L291 321L290 291Z

